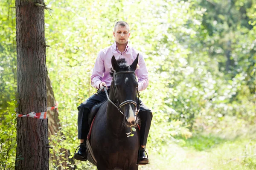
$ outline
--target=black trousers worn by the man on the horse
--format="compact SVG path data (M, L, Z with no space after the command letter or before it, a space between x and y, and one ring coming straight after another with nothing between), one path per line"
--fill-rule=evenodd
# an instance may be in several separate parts
M89 131L88 115L90 113L90 109L105 99L107 99L105 92L100 91L98 95L93 94L85 102L78 106L78 139L87 139L87 134ZM143 104L143 102L140 103L140 111L138 115L140 116L141 120L140 145L146 145L153 115L148 107Z

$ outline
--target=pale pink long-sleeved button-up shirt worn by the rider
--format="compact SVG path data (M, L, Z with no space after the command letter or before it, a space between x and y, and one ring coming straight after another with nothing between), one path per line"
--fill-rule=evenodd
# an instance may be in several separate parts
M125 58L127 64L131 65L132 62L134 62L136 59L138 53L139 51L135 50L133 47L131 47L131 45L128 44L125 48L125 51L121 53L117 48L116 41L113 43L113 45L101 50L93 68L91 85L94 88L99 89L99 83L105 82L106 85L110 87L112 77L110 76L109 72L110 68L112 68L112 56L115 56L116 59ZM138 65L140 68L136 69L135 74L138 78L139 91L143 91L148 87L148 70L146 68L142 54L139 54Z

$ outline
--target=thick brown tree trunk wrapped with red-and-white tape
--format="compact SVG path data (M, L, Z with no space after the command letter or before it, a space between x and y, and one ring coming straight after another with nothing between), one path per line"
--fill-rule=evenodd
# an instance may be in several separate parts
M44 0L36 3L44 4ZM16 0L18 113L47 111L44 7ZM48 170L47 119L17 118L16 170Z

